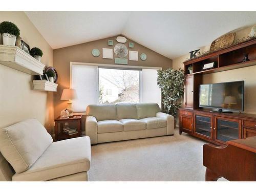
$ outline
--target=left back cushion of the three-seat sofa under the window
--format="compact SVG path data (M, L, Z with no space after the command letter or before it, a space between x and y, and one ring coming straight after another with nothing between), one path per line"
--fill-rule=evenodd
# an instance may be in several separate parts
M94 116L97 121L117 120L115 104L90 104L86 108L87 116Z

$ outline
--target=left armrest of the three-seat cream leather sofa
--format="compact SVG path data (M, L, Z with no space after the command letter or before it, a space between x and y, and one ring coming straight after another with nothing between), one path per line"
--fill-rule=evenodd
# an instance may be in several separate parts
M91 144L97 144L97 130L98 122L94 116L87 116L86 118L86 136L91 139Z

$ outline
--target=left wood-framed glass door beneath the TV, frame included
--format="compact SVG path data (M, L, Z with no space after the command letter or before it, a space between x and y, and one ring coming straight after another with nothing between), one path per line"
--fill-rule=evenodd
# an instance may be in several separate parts
M212 115L196 113L194 116L194 119L195 119L194 133L198 136L206 137L206 138L212 140L213 139L213 135L212 135L213 117L212 117Z

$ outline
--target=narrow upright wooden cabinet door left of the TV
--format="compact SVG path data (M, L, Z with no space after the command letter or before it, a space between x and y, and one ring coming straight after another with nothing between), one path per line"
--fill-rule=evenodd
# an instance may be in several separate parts
M185 95L184 95L184 106L185 108L193 108L193 75L185 77Z

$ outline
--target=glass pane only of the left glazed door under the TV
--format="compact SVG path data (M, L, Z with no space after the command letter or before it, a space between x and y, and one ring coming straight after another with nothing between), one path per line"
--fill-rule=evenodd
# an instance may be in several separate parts
M197 134L201 134L206 137L211 137L211 117L195 115Z

